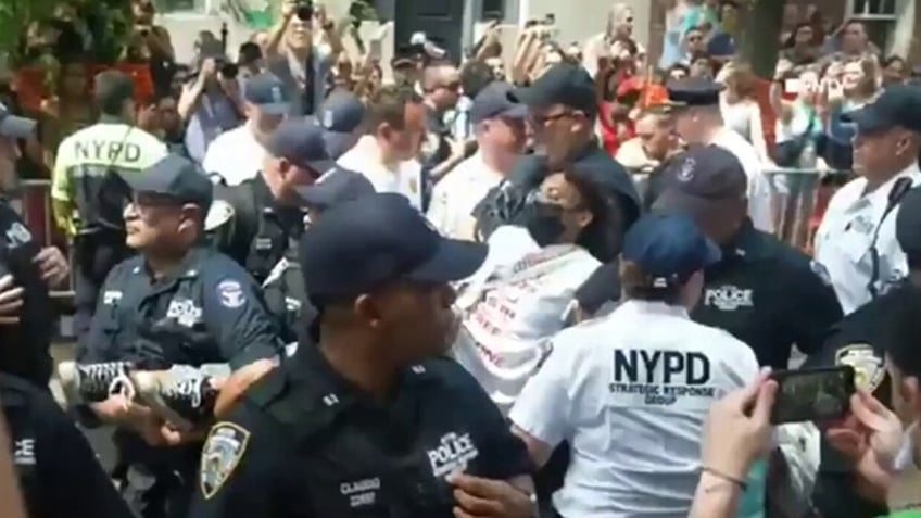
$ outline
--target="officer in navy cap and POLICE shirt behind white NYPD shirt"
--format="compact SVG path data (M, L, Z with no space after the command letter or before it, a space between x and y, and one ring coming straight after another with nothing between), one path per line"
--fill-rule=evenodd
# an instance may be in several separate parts
M729 331L773 368L787 367L793 344L818 351L841 319L834 291L821 266L753 226L739 160L699 147L677 155L661 175L653 209L690 214L723 251L705 271L704 296L691 317Z

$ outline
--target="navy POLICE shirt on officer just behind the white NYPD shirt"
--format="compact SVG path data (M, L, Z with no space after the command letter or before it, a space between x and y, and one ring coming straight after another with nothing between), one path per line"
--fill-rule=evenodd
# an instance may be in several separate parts
M791 348L818 352L842 311L828 274L803 252L745 222L723 260L704 271L691 313L755 350L758 363L785 369Z

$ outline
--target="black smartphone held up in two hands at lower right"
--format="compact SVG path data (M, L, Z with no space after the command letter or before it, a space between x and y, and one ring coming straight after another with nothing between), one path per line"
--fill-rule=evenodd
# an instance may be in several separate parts
M779 389L771 424L828 421L847 414L854 394L854 367L778 370Z

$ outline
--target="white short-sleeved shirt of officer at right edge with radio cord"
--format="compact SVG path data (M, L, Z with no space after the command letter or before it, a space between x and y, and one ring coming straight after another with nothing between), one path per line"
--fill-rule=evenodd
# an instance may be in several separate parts
M816 232L816 262L828 271L845 315L872 298L869 289L873 273L870 249L878 229L880 270L876 289L882 293L886 287L908 275L908 260L895 238L898 205L882 220L890 192L899 178L910 178L917 186L921 182L921 170L914 164L872 192L865 192L866 178L850 180L832 197Z

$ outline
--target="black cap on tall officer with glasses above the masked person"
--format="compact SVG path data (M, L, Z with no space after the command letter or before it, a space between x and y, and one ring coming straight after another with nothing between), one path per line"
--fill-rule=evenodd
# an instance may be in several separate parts
M598 111L592 76L571 63L553 65L531 86L515 90L514 98L529 106L563 104L590 116Z

